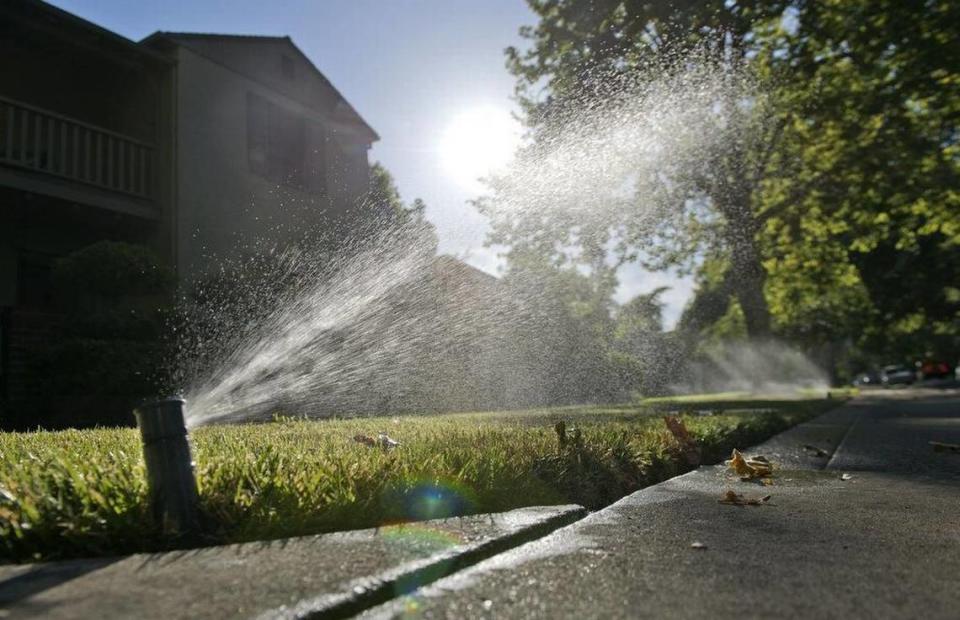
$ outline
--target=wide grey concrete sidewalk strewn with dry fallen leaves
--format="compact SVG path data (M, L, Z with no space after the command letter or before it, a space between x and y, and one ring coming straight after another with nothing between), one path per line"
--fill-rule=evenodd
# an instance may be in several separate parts
M930 441L960 444L955 392L861 398L749 450L772 486L701 468L366 616L958 618L960 454Z

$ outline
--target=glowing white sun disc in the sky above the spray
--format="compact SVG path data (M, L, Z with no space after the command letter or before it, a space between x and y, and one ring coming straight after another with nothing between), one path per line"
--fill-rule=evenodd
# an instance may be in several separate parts
M482 188L480 178L502 170L520 145L520 125L495 106L464 110L454 116L440 141L440 160L457 183Z

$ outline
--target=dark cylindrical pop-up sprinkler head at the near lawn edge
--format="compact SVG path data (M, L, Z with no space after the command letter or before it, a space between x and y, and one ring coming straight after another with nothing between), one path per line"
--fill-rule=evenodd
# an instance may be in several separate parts
M199 527L197 481L183 405L180 398L168 398L133 411L143 439L150 509L155 522L173 535L195 534Z

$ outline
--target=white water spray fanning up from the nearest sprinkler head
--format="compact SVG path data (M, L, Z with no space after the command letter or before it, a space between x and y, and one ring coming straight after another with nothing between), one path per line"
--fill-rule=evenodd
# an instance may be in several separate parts
M563 106L544 139L493 175L485 205L494 229L502 221L522 231L522 221L544 230L543 217L576 223L573 245L557 249L579 262L573 246L591 235L619 251L634 236L686 226L701 201L677 198L700 196L714 158L752 144L753 113L741 107L762 101L748 72L711 59L680 55L662 79L595 76L602 95L590 89ZM419 225L372 223L343 252L291 249L224 264L237 274L229 291L184 304L176 385L190 400L191 426L267 420L278 409L533 407L594 393L556 381L555 360L577 341L544 306L542 278L520 270L484 283L435 258ZM638 355L649 357L657 342Z

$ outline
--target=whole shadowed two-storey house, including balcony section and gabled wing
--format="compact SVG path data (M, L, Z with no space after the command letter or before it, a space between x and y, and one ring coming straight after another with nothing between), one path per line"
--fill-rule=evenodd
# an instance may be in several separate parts
M57 257L134 242L185 280L315 234L366 191L377 139L289 37L134 42L0 3L0 397L43 339Z

